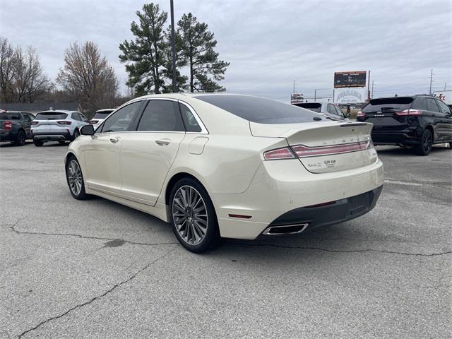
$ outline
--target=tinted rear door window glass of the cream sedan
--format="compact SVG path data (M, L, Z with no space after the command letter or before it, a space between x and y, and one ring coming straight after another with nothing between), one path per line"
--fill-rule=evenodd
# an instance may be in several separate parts
M137 131L185 131L177 102L149 100Z

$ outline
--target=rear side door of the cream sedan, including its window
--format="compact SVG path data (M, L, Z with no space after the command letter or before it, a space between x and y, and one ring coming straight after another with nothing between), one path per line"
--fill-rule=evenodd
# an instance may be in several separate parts
M122 194L155 206L184 137L177 100L148 100L136 131L121 144Z

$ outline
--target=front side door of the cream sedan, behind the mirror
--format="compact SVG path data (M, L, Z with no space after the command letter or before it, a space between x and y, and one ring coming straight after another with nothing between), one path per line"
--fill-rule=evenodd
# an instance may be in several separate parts
M121 107L83 145L85 182L90 189L121 194L121 143L141 112L143 100Z

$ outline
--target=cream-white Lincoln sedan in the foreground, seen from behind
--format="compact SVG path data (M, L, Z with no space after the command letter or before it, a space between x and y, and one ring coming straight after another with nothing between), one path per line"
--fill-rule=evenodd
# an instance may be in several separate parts
M383 185L371 127L248 95L148 95L83 126L66 177L74 198L155 215L201 252L369 212Z

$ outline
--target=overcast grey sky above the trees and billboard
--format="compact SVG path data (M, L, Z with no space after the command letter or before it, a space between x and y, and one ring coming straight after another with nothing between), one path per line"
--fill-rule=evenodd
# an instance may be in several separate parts
M0 0L0 35L32 45L51 78L73 41L96 42L126 82L118 45L131 40L136 11L149 1ZM169 11L169 0L155 1ZM208 24L221 59L231 64L230 93L290 100L332 95L335 71L371 70L374 96L452 90L452 0L174 0L175 20L191 12ZM168 20L169 21L169 20ZM124 85L121 85L124 90Z

